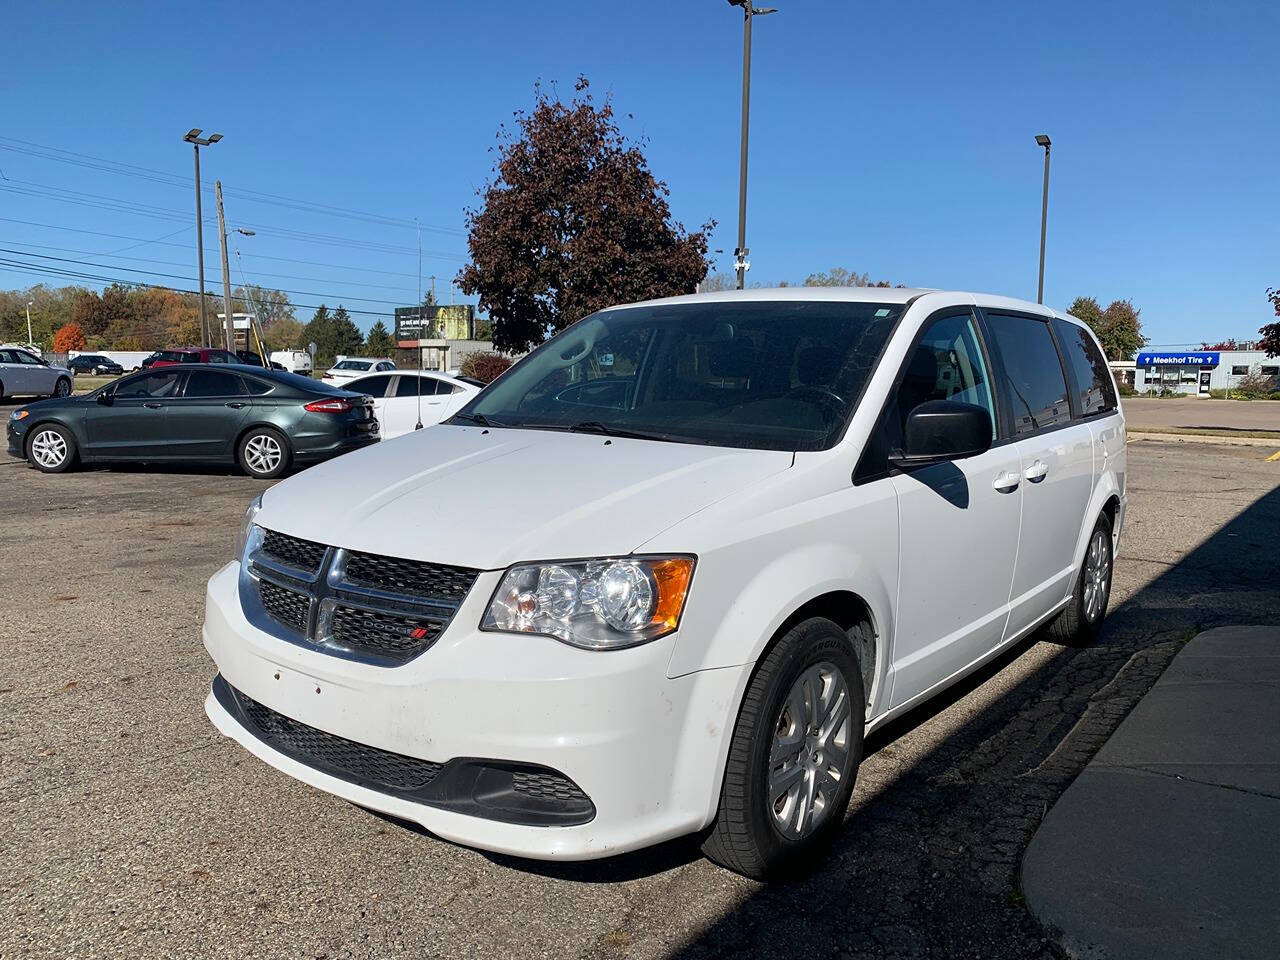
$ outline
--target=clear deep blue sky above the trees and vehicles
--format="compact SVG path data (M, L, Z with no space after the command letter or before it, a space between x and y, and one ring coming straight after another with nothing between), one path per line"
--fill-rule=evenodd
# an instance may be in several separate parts
M1047 132L1046 302L1132 297L1157 344L1248 337L1268 320L1280 5L771 3L781 12L755 27L749 280L846 266L1034 300L1033 138ZM567 96L581 73L648 138L677 219L719 221L712 246L731 266L741 18L723 0L42 3L10 5L5 20L0 247L24 260L193 276L180 138L202 127L225 137L202 155L206 186L220 178L229 220L260 228L233 244L250 282L300 291L302 305L342 301L367 326L413 301L406 221L419 218L422 273L448 302L462 209L490 174L498 125L531 104L535 81ZM146 170L33 155L46 147ZM216 287L214 229L205 244ZM8 270L0 287L38 279Z

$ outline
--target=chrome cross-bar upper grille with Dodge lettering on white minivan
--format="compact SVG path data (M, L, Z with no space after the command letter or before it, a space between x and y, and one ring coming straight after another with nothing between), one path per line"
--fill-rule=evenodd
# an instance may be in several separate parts
M439 639L479 570L356 553L255 527L241 605L282 640L398 666Z

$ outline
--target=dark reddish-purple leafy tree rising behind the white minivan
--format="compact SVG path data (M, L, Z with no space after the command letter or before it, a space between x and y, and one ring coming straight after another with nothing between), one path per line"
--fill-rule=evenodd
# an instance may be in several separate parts
M673 221L667 186L580 77L564 104L535 88L517 136L499 133L493 182L467 210L470 262L499 349L527 349L611 303L692 293L707 232Z

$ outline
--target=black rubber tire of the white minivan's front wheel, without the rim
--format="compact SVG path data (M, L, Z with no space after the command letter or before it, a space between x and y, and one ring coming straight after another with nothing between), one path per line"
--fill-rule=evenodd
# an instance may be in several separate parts
M856 639L869 639L872 628L869 623L861 623L850 632ZM842 763L835 760L837 754L827 753L829 744L823 746L813 736L803 735L797 748L800 756L794 763L772 764L776 737L782 736L795 721L787 713L790 703L794 703L790 696L792 687L803 682L801 678L812 669L823 667L838 671L847 696L846 719L836 727L844 736L845 759ZM805 705L808 701L804 698ZM703 852L721 867L753 879L787 876L817 863L840 832L854 792L863 756L865 705L858 655L850 636L840 626L814 617L783 634L760 662L742 698L724 767L719 809L703 842ZM812 733L812 730L806 732ZM780 796L777 801L771 801L771 780L774 771L795 772L810 762L815 777L837 763L842 769L823 805L813 805L820 813L810 832L788 835L778 819L785 817L790 820L786 810L792 800ZM803 791L810 774L803 772L800 776L799 788ZM822 799L820 792L818 799ZM799 804L799 800L795 803Z

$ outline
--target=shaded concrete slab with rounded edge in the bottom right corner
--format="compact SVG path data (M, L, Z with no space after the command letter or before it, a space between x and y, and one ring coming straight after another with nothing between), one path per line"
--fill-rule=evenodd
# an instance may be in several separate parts
M1071 957L1274 960L1280 627L1201 634L1050 810L1027 905Z

